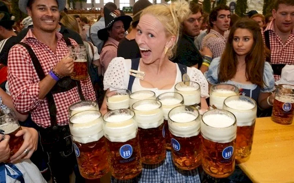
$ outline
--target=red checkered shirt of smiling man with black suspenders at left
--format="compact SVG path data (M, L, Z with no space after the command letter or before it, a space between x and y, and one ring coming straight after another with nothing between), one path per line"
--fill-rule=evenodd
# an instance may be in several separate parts
M62 34L56 32L56 37L55 52L40 42L31 30L28 31L21 41L31 46L45 74L48 74L68 53ZM70 41L73 45L77 45L73 39L70 39ZM49 127L51 123L47 99L39 99L40 79L31 61L29 52L19 44L14 45L9 51L8 82L15 108L22 113L31 112L32 120L40 127ZM81 81L81 87L85 99L96 101L90 78ZM57 124L68 124L69 106L80 101L77 87L66 92L53 94L53 97L57 109Z

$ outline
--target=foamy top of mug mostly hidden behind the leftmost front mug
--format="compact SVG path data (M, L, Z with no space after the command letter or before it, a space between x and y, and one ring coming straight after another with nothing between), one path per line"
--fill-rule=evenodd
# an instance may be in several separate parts
M99 107L97 102L95 101L90 101L90 100L83 100L81 102L76 102L69 106L69 117L72 115L82 112L82 111L91 111L91 110L96 110L99 111Z

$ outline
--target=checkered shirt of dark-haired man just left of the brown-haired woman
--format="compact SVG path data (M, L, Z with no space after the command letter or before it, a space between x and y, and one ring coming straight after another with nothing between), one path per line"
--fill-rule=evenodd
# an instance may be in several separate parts
M201 46L208 47L212 51L212 58L220 57L225 51L225 45L227 44L229 31L226 31L224 35L221 35L218 31L211 29L210 32L203 38Z

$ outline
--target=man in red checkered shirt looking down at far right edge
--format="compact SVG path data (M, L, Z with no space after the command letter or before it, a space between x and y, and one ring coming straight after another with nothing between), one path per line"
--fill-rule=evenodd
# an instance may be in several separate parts
M294 1L277 0L273 20L264 30L265 44L270 49L271 66L275 80L281 77L283 67L294 65Z

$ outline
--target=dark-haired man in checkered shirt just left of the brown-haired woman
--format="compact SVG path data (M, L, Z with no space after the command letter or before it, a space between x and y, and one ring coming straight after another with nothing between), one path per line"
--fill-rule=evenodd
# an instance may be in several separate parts
M215 7L209 15L210 32L202 40L202 49L209 48L212 58L220 57L225 50L230 26L230 8L226 5Z

